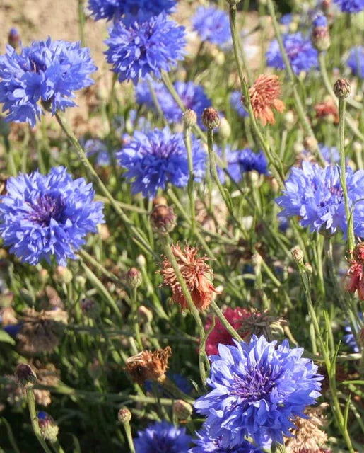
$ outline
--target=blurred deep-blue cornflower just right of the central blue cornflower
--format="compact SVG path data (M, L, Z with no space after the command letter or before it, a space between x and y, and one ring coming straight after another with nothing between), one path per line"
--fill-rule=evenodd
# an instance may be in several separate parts
M221 155L221 151L218 151ZM235 183L240 183L243 173L248 171L257 171L261 175L268 174L267 161L263 151L254 153L252 149L245 148L242 150L232 151L229 146L225 149L225 159L227 162L227 170ZM218 176L221 183L225 183L225 173L221 168L218 168Z

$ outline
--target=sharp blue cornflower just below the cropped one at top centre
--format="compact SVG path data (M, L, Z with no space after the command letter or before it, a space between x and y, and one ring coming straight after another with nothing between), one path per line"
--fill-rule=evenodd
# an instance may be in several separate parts
M136 85L147 74L160 78L160 71L170 71L183 59L184 27L168 19L165 13L148 17L142 11L114 24L105 41L107 62L119 75L119 81L132 80Z

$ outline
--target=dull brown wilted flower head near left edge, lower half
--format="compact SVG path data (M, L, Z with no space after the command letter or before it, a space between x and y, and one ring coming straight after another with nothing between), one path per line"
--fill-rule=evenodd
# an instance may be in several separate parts
M67 312L61 309L40 312L33 308L25 309L16 336L20 352L30 355L53 352L59 345L67 321Z

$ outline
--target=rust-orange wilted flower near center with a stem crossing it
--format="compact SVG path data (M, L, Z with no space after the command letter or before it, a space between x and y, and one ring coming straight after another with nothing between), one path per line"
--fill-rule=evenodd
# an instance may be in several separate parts
M213 294L219 294L218 290L213 287L211 282L213 270L206 264L206 260L209 260L209 257L196 256L198 252L197 248L189 247L187 245L184 246L184 251L181 250L178 244L176 246L172 245L172 252L177 260L178 267L180 268L189 292L191 293L196 309L207 309L211 304ZM175 270L173 270L170 261L166 257L164 257L163 260L163 269L161 270L161 273L163 275L164 285L172 288L172 300L177 304L180 304L182 309L187 309L187 301L175 275Z

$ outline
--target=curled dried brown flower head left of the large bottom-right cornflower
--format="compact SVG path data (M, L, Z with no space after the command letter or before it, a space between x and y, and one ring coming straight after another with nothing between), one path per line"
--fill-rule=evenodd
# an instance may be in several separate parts
M127 372L137 384L143 384L146 380L163 382L171 355L172 350L169 346L155 352L139 352L127 359Z

